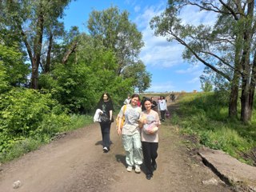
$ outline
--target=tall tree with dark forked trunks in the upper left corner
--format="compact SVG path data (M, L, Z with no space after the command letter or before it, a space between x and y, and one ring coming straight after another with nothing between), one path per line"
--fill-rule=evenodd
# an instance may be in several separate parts
M31 87L38 89L39 66L42 66L42 55L46 54L46 71L50 68L50 52L54 37L63 30L63 10L70 0L24 0L1 1L2 30L14 33L26 47L31 63ZM29 30L27 30L29 29ZM44 49L43 47L47 47ZM42 66L42 70L45 70Z

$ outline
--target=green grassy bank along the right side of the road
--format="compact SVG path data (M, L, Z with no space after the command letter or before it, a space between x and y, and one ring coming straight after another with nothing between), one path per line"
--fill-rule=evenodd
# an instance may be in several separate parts
M181 127L182 134L196 135L204 146L223 150L250 165L255 163L250 155L256 147L255 105L252 120L246 124L228 118L228 101L223 94L182 94L179 104L177 114L181 115L174 114L172 123Z

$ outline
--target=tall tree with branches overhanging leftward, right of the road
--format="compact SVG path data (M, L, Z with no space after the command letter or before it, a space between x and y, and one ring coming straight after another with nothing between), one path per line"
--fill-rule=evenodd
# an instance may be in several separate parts
M218 14L214 27L182 23L179 13L186 6ZM242 86L243 122L250 121L253 110L254 14L254 1L169 0L166 10L150 22L156 35L166 36L168 41L175 40L186 47L183 58L202 62L230 82L230 116L237 113L238 87Z

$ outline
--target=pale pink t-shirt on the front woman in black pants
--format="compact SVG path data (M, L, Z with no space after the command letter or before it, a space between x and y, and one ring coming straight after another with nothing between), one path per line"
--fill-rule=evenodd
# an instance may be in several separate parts
M159 116L158 116L158 112L154 111L154 110L150 110L149 114L146 114L146 110L142 111L141 114L141 118L142 119L147 119L148 123L154 123L155 126L161 125ZM148 126L148 125L144 125L144 126ZM158 130L156 132L154 132L154 134L147 134L145 127L142 128L142 142L158 142Z

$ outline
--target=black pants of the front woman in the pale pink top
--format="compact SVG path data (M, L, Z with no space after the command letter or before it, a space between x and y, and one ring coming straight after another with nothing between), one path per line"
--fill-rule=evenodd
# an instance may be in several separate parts
M156 163L155 159L158 158L158 142L142 142L142 151L146 174L153 175L152 165Z

